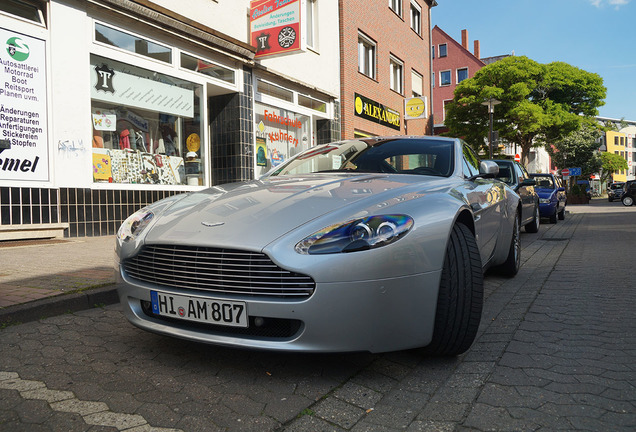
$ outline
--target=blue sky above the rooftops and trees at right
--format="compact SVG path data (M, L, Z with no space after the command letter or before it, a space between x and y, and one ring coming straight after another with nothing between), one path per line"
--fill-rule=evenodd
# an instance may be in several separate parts
M437 0L431 26L481 57L561 61L603 78L599 115L636 121L636 0Z

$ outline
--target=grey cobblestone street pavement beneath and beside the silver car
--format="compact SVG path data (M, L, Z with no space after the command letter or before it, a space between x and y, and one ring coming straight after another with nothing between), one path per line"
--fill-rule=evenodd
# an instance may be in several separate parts
M0 331L0 431L636 430L636 207L568 210L457 358L219 348L112 305Z

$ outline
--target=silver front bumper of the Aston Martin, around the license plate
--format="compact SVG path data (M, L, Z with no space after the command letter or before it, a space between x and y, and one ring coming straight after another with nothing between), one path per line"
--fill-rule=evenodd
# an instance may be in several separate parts
M120 300L127 319L155 333L231 347L305 352L385 352L430 343L441 270L359 282L316 283L304 300L228 296L140 284L119 269ZM152 290L174 295L244 301L253 331L166 320L144 311ZM147 303L146 303L147 305ZM285 336L263 335L257 322L290 323Z

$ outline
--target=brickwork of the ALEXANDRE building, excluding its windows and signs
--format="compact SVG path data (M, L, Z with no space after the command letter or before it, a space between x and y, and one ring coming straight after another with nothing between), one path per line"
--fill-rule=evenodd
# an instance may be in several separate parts
M355 131L372 135L406 133L404 98L412 96L411 70L423 77L423 96L430 104L430 23L429 5L421 7L421 34L411 29L411 2L403 0L402 16L389 8L386 0L340 0L340 69L342 137L352 138ZM358 34L376 43L376 79L358 72ZM404 94L390 88L389 58L404 63ZM354 115L354 93L359 93L401 113L401 130L382 126ZM430 107L429 107L430 112ZM430 133L428 119L408 121L409 135Z

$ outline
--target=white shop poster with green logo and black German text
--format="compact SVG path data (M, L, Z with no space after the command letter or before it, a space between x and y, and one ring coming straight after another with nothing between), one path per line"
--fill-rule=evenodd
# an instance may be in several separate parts
M46 45L0 28L0 180L49 181Z

